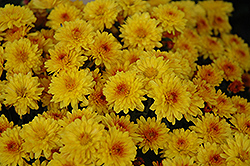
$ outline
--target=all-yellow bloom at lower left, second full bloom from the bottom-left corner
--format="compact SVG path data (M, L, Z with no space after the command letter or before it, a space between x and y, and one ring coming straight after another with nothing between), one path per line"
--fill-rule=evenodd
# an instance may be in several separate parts
M21 137L24 139L24 150L34 153L35 159L40 156L49 158L52 149L62 146L58 132L61 126L54 119L35 117L28 124L23 125Z

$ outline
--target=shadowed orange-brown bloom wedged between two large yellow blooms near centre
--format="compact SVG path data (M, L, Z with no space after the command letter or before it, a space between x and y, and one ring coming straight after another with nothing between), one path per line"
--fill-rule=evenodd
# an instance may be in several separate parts
M96 111L98 114L103 115L111 112L108 108L108 102L106 96L103 94L104 84L97 83L94 87L94 92L88 97L89 107Z

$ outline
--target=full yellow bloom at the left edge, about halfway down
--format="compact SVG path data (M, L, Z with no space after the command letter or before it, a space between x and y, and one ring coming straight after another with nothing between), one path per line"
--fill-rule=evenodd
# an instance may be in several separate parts
M13 105L20 115L29 113L30 109L38 109L37 100L40 99L43 88L39 87L38 77L32 77L31 73L14 74L9 76L8 83L4 86L1 98L4 104Z

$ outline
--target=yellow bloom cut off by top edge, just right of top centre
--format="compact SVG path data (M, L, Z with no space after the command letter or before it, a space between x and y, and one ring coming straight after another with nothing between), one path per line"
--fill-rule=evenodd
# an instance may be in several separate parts
M137 12L145 12L149 4L142 0L117 0L122 8L122 16L125 18Z

